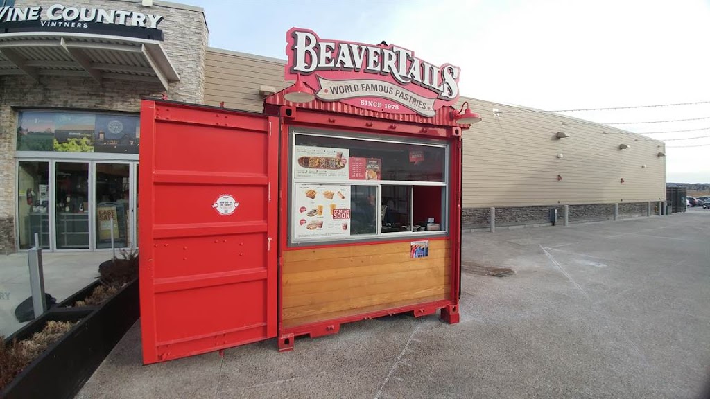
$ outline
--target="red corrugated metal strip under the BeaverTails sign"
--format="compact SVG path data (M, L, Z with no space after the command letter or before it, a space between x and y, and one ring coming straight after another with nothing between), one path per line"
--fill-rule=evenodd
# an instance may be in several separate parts
M320 101L319 99L315 99L312 102L309 102L307 104L296 104L290 101L287 101L286 99L283 98L283 90L274 94L271 94L271 96L266 97L266 104L273 104L273 105L288 105L288 106L295 106L300 109L314 109L317 111L325 111L325 112L335 112L338 114L350 114L350 115L359 115L359 116L366 116L368 118L377 118L377 119L389 119L392 121L400 121L400 122L410 122L413 124L427 124L427 125L436 125L436 126L459 126L463 129L466 129L468 126L467 125L460 125L454 123L451 119L451 110L452 107L450 106L442 106L441 108L437 109L437 114L433 116L432 118L425 118L424 116L420 116L418 114L391 114L389 112L382 112L382 111L372 111L370 109L362 109L359 108L358 106L352 106L350 104L343 104L342 102L324 102Z

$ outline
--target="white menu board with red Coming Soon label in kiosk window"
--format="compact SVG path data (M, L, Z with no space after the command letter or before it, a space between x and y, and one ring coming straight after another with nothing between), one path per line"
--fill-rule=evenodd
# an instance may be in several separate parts
M350 236L350 186L297 184L292 194L295 239Z

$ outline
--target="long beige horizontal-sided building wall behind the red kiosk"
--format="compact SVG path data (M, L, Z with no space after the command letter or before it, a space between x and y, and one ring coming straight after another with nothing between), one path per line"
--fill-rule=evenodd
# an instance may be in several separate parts
M290 85L283 80L284 65L284 60L209 48L204 102L261 112L261 85L277 91ZM559 114L461 97L464 101L484 119L464 133L466 208L665 199L662 141ZM569 137L557 138L558 131ZM622 143L629 148L619 149Z

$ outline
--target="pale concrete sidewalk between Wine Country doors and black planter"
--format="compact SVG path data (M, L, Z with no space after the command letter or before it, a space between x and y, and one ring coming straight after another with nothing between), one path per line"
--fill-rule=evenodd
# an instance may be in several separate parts
M116 252L118 253L118 252ZM99 276L99 264L111 259L111 251L43 251L45 291L64 300ZM0 335L9 336L26 323L15 317L15 308L31 295L27 253L0 255Z

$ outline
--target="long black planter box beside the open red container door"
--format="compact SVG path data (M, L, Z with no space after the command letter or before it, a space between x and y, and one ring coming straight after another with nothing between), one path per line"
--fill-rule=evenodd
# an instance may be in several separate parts
M98 284L97 283L93 283ZM73 398L108 356L139 314L138 280L121 288L99 306L71 305L91 293L92 285L50 309L6 339L21 341L41 331L50 321L77 322L59 341L50 345L0 393L4 399ZM74 298L74 300L72 300ZM70 300L72 300L70 302Z

